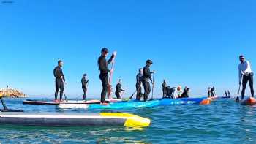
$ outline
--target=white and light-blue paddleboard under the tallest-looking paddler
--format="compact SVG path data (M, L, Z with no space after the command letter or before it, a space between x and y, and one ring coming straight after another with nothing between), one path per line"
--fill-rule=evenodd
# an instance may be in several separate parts
M152 100L147 102L113 102L108 105L83 105L83 104L60 104L58 105L61 109L131 109L135 107L154 107L160 104L159 100Z

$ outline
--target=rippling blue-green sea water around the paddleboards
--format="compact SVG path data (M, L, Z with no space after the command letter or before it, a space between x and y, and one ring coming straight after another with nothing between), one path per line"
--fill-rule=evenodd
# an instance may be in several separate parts
M86 112L58 110L56 106L49 105L23 105L23 99L5 101L10 108L26 112ZM218 100L211 105L173 105L112 111L151 118L152 124L146 129L122 126L0 126L0 143L256 143L256 106L239 105L232 99Z

